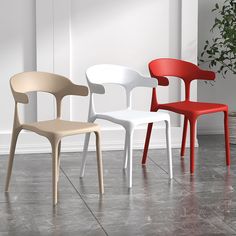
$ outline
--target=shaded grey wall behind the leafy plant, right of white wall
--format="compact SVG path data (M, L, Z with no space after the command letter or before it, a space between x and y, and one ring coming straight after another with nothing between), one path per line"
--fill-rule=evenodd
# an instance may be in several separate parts
M211 39L212 34L209 32L214 22L214 14L211 10L215 3L223 3L224 0L199 0L199 49L198 55L204 47L204 42ZM207 69L203 65L203 68ZM225 103L229 105L230 110L236 110L236 77L228 75L227 79L217 75L214 86L198 82L198 101L209 101L216 103ZM223 133L223 115L214 114L203 116L198 122L199 134L220 134Z

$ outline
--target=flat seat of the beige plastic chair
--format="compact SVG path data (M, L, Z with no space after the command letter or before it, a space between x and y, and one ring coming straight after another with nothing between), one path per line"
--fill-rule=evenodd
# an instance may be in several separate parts
M42 136L60 137L99 131L99 125L87 122L67 121L61 119L22 124L22 128Z

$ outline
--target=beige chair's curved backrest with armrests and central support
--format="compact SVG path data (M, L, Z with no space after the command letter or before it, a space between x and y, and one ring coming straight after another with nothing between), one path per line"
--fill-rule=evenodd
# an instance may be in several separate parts
M47 72L23 72L10 79L10 86L15 102L28 103L28 92L46 92L53 94L57 102L57 117L61 116L61 101L67 95L87 96L86 86L73 84L61 75Z

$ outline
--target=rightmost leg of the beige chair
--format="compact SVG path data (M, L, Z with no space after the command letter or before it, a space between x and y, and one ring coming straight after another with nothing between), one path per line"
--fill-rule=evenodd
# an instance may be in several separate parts
M101 153L101 149L100 149L100 133L95 132L95 135L96 135L96 151L97 151L99 191L100 191L101 194L103 194L104 193L104 185L103 185L102 153Z

